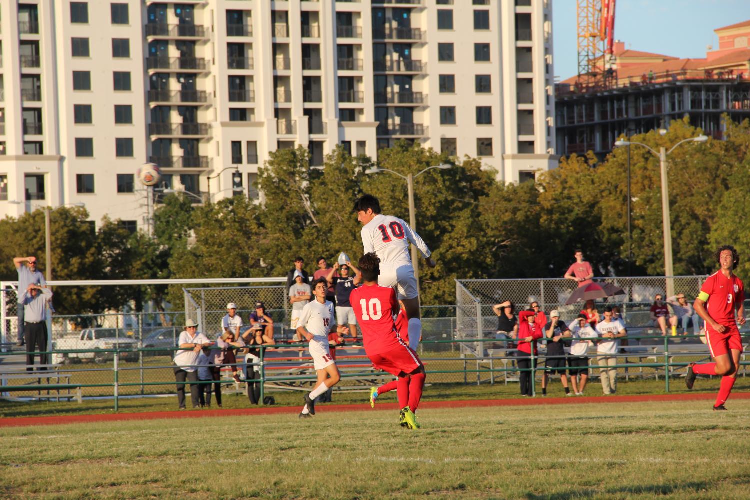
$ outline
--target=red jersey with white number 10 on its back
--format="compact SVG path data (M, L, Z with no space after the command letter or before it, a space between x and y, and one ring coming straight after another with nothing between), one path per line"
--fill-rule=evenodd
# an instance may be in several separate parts
M388 352L403 345L393 315L398 311L396 292L390 286L364 285L353 289L349 301L362 328L362 343L368 355Z

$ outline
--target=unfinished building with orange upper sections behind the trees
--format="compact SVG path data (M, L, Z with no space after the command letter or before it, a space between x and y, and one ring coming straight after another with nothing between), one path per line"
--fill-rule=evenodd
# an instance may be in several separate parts
M666 128L685 115L721 139L722 114L750 118L750 20L714 32L718 49L709 47L705 58L637 52L615 42L606 65L592 64L598 75L557 84L556 153L606 154L619 136Z

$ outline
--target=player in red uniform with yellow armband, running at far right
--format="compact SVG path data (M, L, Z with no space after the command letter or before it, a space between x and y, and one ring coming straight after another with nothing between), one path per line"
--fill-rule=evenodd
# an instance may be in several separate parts
M745 290L742 288L742 281L732 272L739 264L739 255L734 247L718 247L715 257L719 270L706 278L693 303L695 312L706 322L706 344L711 351L713 363L689 364L685 385L688 389L693 387L696 373L720 375L721 383L713 409L725 410L724 401L729 397L734 385L739 353L742 352L742 340L739 338L737 323L745 323L745 310L742 307Z

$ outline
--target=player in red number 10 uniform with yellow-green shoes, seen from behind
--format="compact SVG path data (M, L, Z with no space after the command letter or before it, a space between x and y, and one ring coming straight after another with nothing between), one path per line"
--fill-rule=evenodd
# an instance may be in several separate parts
M390 286L377 284L380 259L375 253L365 253L359 259L363 285L352 291L350 303L354 308L362 343L373 366L398 377L396 394L401 407L400 421L410 429L419 429L416 412L425 385L425 367L416 352L399 337L394 316L398 310L396 292Z

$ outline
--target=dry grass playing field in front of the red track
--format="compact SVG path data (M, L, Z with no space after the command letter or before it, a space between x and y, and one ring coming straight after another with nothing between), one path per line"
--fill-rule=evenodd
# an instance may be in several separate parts
M0 429L2 498L745 499L750 401Z

